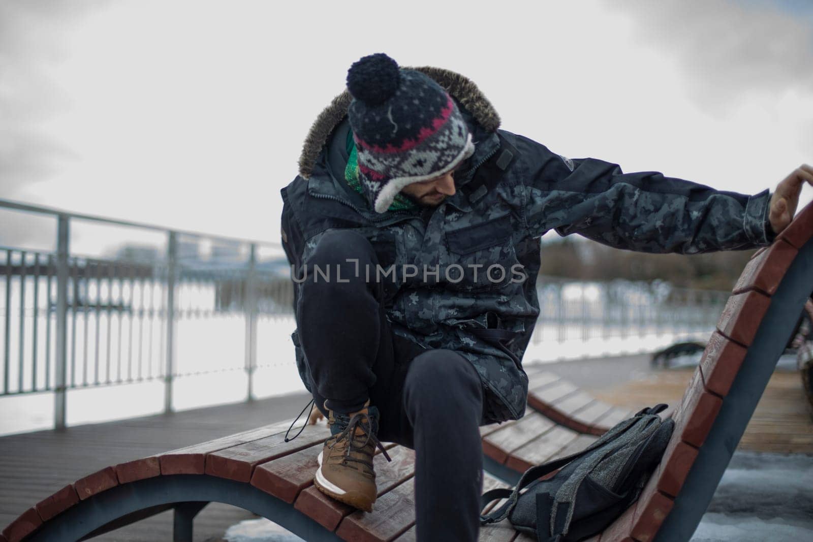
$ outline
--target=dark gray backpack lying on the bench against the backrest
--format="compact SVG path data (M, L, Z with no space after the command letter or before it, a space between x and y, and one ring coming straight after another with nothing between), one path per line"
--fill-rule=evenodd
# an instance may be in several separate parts
M603 531L637 500L658 466L675 427L672 419L658 415L666 407L641 410L579 453L531 467L513 489L485 492L481 509L497 499L507 501L480 515L480 523L508 518L517 531L536 535L539 542L575 542Z

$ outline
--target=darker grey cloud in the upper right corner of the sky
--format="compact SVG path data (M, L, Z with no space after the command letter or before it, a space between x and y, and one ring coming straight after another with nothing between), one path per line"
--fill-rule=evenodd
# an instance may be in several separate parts
M813 97L813 11L801 5L628 0L612 7L633 20L639 42L675 60L712 114L725 115L748 93Z

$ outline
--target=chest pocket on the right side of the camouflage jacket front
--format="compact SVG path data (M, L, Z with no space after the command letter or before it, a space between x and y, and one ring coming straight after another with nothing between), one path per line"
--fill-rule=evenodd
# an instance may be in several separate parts
M441 277L448 288L492 290L511 283L518 264L511 235L511 214L446 231L449 262Z

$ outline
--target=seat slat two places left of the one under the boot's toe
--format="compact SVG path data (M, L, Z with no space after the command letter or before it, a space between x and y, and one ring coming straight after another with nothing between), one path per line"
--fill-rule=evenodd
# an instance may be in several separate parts
M294 440L285 442L285 433L278 433L260 440L237 444L231 448L208 453L206 456L206 474L248 482L254 466L272 461L289 453L306 449L330 436L330 430L322 424L307 425Z

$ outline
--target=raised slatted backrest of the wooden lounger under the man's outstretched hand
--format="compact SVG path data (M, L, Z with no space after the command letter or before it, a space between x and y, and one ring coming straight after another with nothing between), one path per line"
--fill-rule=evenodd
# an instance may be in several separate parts
M760 249L733 288L672 416L658 470L593 542L689 540L813 292L813 204Z

